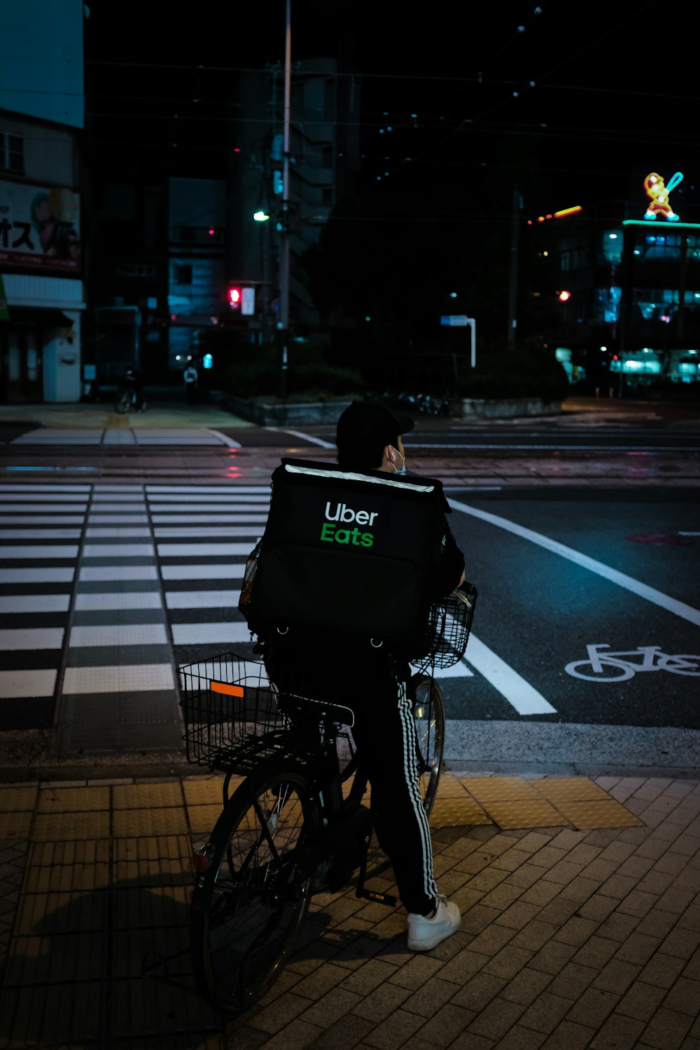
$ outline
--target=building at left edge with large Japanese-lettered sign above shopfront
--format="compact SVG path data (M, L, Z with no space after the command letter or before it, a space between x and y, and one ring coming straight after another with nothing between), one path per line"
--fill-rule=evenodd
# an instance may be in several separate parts
M80 400L83 4L0 15L0 402ZM42 24L50 55L27 49Z

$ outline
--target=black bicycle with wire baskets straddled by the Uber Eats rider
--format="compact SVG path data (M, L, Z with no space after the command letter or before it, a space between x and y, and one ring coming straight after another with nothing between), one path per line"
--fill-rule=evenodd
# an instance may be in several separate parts
M411 660L428 815L445 740L444 698L432 672L464 655L476 601L473 586L464 589L432 607L430 653ZM261 662L235 653L181 667L179 677L187 759L226 774L221 813L193 852L192 969L203 999L235 1013L279 976L315 894L337 892L357 872L358 898L396 906L391 895L366 887L390 861L367 873L367 773L353 742L353 712L334 702L333 682L306 672L282 691ZM245 779L229 795L235 774Z

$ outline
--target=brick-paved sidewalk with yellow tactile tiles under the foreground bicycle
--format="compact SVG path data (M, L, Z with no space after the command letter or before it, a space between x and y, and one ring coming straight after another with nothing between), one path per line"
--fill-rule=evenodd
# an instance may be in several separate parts
M191 842L219 807L219 777L0 785L0 1047L699 1050L698 780L445 775L460 931L413 954L401 908L317 897L233 1020L188 958Z

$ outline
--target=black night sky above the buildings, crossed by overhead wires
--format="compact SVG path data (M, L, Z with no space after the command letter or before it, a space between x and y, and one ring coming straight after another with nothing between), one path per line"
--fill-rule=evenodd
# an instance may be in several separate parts
M674 200L679 211L691 206L700 132L687 8L549 0L398 9L292 0L293 62L337 57L362 75L361 191L384 202L420 193L460 220L503 214L512 187L538 214L634 196L639 173L681 170ZM283 61L285 4L203 0L155 25L143 10L134 0L91 5L96 138L115 167L136 148L147 165L193 145L215 168L232 70Z

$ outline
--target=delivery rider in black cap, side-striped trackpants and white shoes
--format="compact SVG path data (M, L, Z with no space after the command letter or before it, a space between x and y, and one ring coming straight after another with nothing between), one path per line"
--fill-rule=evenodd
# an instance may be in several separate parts
M405 474L402 436L413 426L410 416L394 413L383 404L353 402L337 423L338 465L369 477L378 471ZM464 556L444 517L450 508L442 495L440 498L442 553L432 588L436 601L465 580ZM358 627L361 630L361 625ZM293 673L294 667L322 669L325 665L336 680L347 682L357 681L361 666L363 681L373 682L372 690L348 688L343 702L355 715L353 737L368 771L377 838L391 861L399 898L407 911L408 948L434 948L459 929L461 915L454 902L439 894L433 878L430 830L419 790L408 662L384 647L364 646L360 656L357 642L319 632L313 638L289 643L281 655L279 646L287 643L277 640L274 645L277 653L273 647L270 664L266 660L273 680L275 660L279 667L281 659L288 672ZM264 645L262 649L264 653Z

